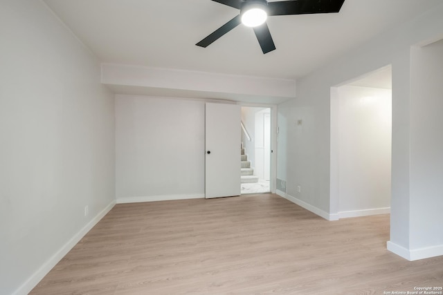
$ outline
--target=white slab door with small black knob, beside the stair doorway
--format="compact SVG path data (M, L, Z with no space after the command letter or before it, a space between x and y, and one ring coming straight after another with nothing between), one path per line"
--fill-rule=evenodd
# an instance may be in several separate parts
M240 195L241 108L206 104L206 198Z

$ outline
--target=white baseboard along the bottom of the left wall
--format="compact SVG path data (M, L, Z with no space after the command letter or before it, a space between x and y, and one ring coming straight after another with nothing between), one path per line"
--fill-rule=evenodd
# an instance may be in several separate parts
M96 217L89 221L87 225L80 229L80 231L78 231L78 233L71 238L71 240L66 242L66 244L63 245L60 250L49 258L46 263L44 263L44 265L37 270L37 272L30 276L30 278L28 278L28 280L26 280L26 282L21 285L13 293L13 295L29 294L29 292L39 283L39 281L42 280L42 278L44 278L44 276L46 276L46 274L48 274L48 272L50 272L51 269L53 269L53 267L55 267L55 265L57 265L57 263L59 263L66 254L68 254L69 251L71 251L71 249L88 233L88 231L90 231L94 225L96 225L97 222L99 222L109 211L111 211L115 204L116 202L113 200L107 205L107 207L105 207L105 209L100 211Z

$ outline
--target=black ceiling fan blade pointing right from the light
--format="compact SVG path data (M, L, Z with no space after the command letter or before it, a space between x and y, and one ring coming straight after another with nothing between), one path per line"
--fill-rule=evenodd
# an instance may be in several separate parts
M268 15L305 15L339 12L345 0L293 0L268 2Z

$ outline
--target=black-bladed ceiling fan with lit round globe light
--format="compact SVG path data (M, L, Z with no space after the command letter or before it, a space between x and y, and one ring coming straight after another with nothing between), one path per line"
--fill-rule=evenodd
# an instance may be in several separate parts
M345 0L289 0L268 2L266 0L213 0L237 8L240 14L195 44L206 48L227 32L243 23L252 27L263 54L275 50L275 45L266 24L266 17L275 15L305 15L339 12Z

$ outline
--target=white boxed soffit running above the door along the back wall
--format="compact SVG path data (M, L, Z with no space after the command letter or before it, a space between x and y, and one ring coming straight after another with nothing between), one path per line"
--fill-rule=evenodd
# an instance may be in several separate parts
M296 81L293 79L123 64L102 64L102 82L116 93L161 97L175 97L180 93L181 97L192 99L210 97L250 104L278 104L296 95Z

